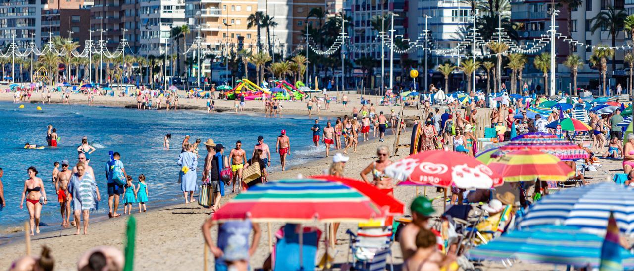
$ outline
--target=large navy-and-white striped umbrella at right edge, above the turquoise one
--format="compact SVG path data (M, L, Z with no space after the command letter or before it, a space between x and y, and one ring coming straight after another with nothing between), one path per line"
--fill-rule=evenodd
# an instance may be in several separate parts
M614 211L616 224L624 234L634 234L634 188L600 182L560 190L541 198L527 211L520 227L568 225L587 232L604 234L607 219Z

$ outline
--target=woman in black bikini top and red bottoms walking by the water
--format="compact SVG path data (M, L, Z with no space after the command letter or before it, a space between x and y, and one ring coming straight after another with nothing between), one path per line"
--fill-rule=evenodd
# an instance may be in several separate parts
M31 227L31 235L33 234L33 227L36 228L36 233L39 234L39 218L42 211L42 204L46 204L46 192L44 192L44 184L42 179L36 177L37 169L35 167L29 167L29 179L24 181L24 190L22 191L22 199L20 200L20 209L24 204L24 198L27 198L27 209L29 210L29 222Z

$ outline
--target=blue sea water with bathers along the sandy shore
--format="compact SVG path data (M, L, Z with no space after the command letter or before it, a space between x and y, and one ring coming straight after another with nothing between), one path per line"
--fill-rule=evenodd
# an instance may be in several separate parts
M273 172L281 168L280 157L275 153L275 143L281 129L287 130L292 144L287 167L321 157L318 153L324 150L323 146L312 146L310 128L314 120L307 117L266 118L259 114L142 111L60 104L27 103L23 109L18 106L0 103L0 167L4 170L2 180L7 202L4 210L0 211L0 234L29 219L26 204L20 210L20 199L24 180L29 178L27 168L31 166L39 171L37 177L44 182L48 199L42 208L41 222L46 225L60 224L60 204L55 185L51 182L53 163L61 163L61 160L66 159L72 168L77 163L77 147L83 136L87 136L89 144L96 148L90 156L90 165L101 194L98 215L108 213L105 177L108 151L121 154L121 161L126 172L134 177L134 184L139 174L146 176L150 199L148 206L159 206L183 201L181 186L177 183L181 167L176 165L176 161L185 135L191 136L191 143L196 139L202 142L208 138L214 139L216 144L224 145L224 154L227 156L235 148L236 141L240 140L249 158L257 144L257 137L263 136L264 142L271 148L273 162L270 170ZM36 106L41 106L42 110L36 110ZM26 142L46 146L46 125L49 124L57 129L61 138L58 148L24 149ZM164 136L168 133L172 134L171 149L152 149L163 147ZM198 151L200 159L197 171L200 179L207 151L202 143ZM134 208L138 211L137 206ZM119 212L123 212L122 203Z

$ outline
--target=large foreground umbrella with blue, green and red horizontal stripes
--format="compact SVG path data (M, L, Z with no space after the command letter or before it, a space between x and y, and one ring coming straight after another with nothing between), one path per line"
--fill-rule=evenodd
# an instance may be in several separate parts
M361 222L384 211L349 186L323 179L284 179L256 185L214 213L214 220L288 223Z

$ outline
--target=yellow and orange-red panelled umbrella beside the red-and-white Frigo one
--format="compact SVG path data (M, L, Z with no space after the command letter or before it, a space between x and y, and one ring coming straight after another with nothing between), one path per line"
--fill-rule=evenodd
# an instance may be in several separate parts
M564 181L574 170L559 158L534 150L512 151L491 160L489 168L500 173L504 182L529 182L536 179Z

